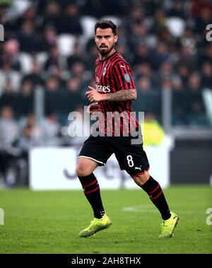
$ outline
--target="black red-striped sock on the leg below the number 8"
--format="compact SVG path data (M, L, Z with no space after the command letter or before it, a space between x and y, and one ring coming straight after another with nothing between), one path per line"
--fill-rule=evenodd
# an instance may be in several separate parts
M159 183L150 177L147 182L145 182L141 188L147 192L151 202L158 208L163 220L170 219L170 209L165 200L163 190L161 189Z

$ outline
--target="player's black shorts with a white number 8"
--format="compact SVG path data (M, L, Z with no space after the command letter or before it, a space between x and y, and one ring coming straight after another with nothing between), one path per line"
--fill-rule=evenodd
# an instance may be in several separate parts
M78 157L90 158L99 165L106 165L112 153L121 170L126 170L130 175L143 174L149 169L143 144L131 144L129 136L89 136Z

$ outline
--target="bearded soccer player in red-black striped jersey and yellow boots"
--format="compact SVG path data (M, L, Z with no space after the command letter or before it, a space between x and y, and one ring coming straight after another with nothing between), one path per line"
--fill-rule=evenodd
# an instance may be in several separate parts
M95 62L95 88L88 86L86 97L92 103L88 112L98 111L103 117L99 120L100 134L91 134L78 156L76 174L94 214L90 226L83 229L79 236L86 238L112 224L102 205L100 187L93 171L98 165L106 165L107 159L114 153L120 168L129 173L160 211L163 223L159 238L170 238L179 217L170 211L160 184L148 173L149 163L143 143L131 142L136 137L130 130L139 129L136 117L131 116L131 100L136 100L136 88L129 64L114 49L118 40L117 26L112 21L99 21L95 24L94 38L99 54ZM108 113L110 117L107 117ZM120 134L116 135L118 124L114 117L119 114L123 117L119 120Z

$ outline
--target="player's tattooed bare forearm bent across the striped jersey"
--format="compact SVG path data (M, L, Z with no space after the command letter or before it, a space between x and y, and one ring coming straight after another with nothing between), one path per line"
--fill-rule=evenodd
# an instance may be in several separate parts
M116 93L107 93L104 95L105 100L109 101L129 101L136 100L137 93L136 89L122 89Z

